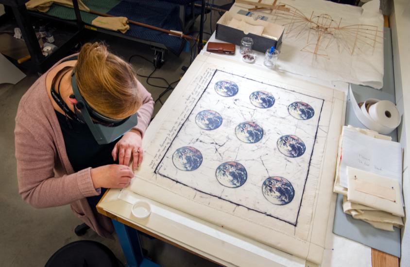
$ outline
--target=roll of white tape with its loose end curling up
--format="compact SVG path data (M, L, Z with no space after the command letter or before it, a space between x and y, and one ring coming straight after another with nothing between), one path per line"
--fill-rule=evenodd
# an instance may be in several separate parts
M390 134L400 124L400 113L396 106L388 100L368 99L361 106L349 89L350 101L356 117L364 126L380 134Z

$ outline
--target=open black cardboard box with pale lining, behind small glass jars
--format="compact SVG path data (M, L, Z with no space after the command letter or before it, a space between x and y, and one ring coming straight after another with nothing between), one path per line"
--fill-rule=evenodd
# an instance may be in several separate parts
M233 19L243 20L247 24L254 26L264 26L262 35L253 33L244 33L241 30L229 27L229 22ZM216 39L233 43L240 46L240 40L243 37L251 37L254 40L253 50L265 53L267 49L274 46L277 47L282 42L282 35L285 27L270 23L264 20L254 20L252 17L247 17L240 14L225 12L216 24ZM268 37L269 36L269 37Z

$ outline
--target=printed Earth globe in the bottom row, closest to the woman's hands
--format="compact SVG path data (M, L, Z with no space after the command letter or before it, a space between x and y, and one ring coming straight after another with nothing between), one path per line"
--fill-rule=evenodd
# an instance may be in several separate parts
M202 164L202 154L196 148L182 147L175 150L173 153L172 163L180 170L196 170Z

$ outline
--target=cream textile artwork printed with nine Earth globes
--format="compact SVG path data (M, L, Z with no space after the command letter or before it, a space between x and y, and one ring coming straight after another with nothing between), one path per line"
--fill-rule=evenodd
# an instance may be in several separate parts
M343 111L342 92L199 56L130 189L320 263Z

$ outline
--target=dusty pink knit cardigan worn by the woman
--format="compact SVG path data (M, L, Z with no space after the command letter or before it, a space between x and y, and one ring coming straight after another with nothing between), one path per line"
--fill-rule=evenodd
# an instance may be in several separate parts
M74 172L68 160L60 124L46 91L49 71L28 89L17 109L14 133L19 194L35 208L71 204L74 214L95 232L111 237L111 220L93 213L85 199L101 191L94 189L91 168ZM143 135L153 114L154 101L141 83L138 90L143 105L138 110L135 129Z

